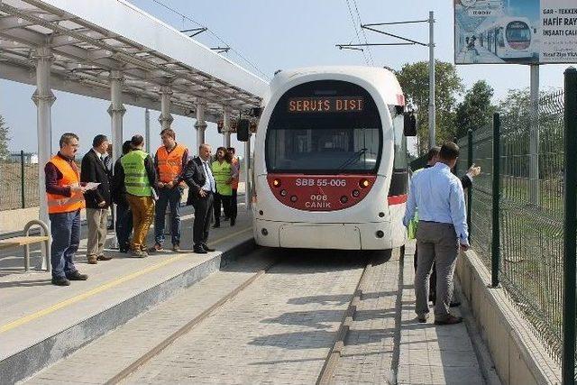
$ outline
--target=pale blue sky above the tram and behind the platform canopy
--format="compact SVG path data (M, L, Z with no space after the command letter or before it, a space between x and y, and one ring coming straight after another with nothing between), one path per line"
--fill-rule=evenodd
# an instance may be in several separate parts
M96 0L94 0L96 1ZM358 42L353 26L360 23L386 23L425 20L435 12L435 57L453 62L453 0L159 0L180 14L207 26L211 32L197 36L198 41L214 47L224 42L238 54L225 54L262 78L271 78L277 69L316 65L374 65L400 69L405 63L428 60L428 49L420 46L374 47L364 52L338 50L335 44ZM512 0L517 2L519 0ZM177 29L198 25L175 14L155 0L131 0L145 12ZM358 10L358 14L357 14ZM354 20L354 22L353 22ZM428 24L393 25L386 30L408 38L428 42ZM358 28L360 40L395 41ZM215 37L218 36L218 38ZM219 40L220 39L220 40ZM224 41L224 42L223 42ZM256 68L254 68L255 66ZM563 70L568 65L544 65L540 68L540 87L562 87ZM520 65L458 66L465 87L485 79L495 89L495 101L507 95L508 89L529 87L529 68ZM34 87L0 80L0 115L11 129L11 151L36 151L36 109L32 103ZM110 133L109 102L55 91L52 106L52 148L58 148L61 133L80 136L81 152L89 150L97 133ZM144 110L126 105L124 138L144 131ZM160 145L157 111L151 111L151 148ZM174 116L177 139L189 148L196 147L194 119ZM234 138L235 135L233 135ZM209 124L207 142L222 145L215 124ZM233 145L243 153L242 143ZM194 152L194 151L193 151Z

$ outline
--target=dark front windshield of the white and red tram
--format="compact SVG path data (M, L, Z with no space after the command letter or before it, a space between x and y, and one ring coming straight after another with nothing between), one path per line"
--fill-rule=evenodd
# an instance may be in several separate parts
M306 83L279 99L265 148L269 172L376 173L380 115L362 87L336 80Z

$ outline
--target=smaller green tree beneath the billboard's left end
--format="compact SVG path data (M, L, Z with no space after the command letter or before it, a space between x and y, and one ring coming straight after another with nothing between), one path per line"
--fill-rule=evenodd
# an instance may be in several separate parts
M490 124L496 110L491 103L493 87L485 80L479 80L465 93L463 102L457 105L455 126L457 138L463 138L469 130L476 130Z

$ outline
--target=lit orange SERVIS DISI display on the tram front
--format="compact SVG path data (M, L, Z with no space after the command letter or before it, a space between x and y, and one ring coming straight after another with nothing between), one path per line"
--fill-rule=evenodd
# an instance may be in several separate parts
M287 110L291 114L362 112L362 96L291 97Z

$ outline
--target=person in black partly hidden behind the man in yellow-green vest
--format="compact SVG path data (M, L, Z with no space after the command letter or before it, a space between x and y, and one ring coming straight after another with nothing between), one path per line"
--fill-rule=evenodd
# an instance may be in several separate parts
M130 210L130 205L126 199L126 186L124 186L124 178L120 178L121 170L123 170L122 157L128 152L132 151L130 141L123 144L123 155L114 162L114 176L112 179L112 199L116 204L116 241L120 252L129 252L130 250L130 234L133 232L133 212Z

